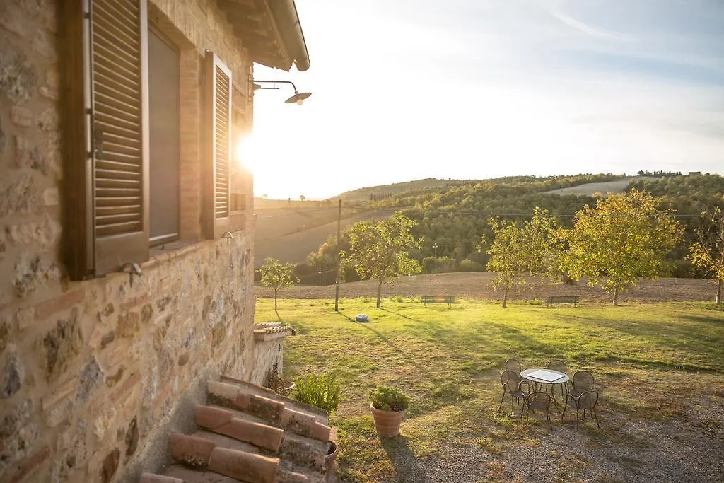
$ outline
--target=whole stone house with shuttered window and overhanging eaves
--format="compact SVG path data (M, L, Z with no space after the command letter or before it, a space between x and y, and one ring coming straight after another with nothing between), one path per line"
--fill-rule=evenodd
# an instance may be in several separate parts
M0 1L0 482L138 481L209 384L281 364L253 62L309 67L294 0Z

